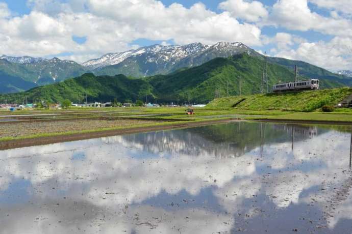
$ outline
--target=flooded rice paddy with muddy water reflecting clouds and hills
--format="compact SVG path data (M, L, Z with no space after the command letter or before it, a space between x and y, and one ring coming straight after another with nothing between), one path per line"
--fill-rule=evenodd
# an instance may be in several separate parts
M0 151L0 233L351 233L350 144L242 122Z

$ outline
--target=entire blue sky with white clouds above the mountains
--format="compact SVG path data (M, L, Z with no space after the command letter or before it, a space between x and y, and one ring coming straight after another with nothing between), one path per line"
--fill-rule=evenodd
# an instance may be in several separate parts
M352 1L0 0L0 54L83 63L153 44L219 41L352 70Z

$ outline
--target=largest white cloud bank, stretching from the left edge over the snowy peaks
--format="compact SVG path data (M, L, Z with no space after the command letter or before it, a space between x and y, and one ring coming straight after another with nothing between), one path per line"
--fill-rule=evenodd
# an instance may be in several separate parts
M156 0L29 0L28 5L29 15L1 19L0 53L68 52L83 62L97 54L131 49L131 42L139 38L173 39L177 44L241 41L261 45L258 26L240 23L229 12L207 10L202 3L185 8L177 3L166 7ZM6 5L0 9L7 9ZM79 45L72 36L87 40Z

